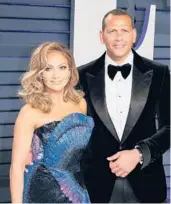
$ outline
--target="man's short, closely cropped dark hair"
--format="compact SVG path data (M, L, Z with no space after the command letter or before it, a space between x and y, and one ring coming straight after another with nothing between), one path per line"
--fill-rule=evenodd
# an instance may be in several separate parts
M122 9L113 9L113 10L107 12L105 14L105 16L103 17L102 30L105 29L105 20L110 14L113 16L128 16L131 19L131 24L132 24L132 27L134 28L134 20L133 20L132 16L127 11L122 10Z

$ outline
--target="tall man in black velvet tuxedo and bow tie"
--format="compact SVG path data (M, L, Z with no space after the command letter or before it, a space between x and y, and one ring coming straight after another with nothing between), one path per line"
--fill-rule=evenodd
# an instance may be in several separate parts
M170 145L168 67L132 50L136 30L125 11L115 9L104 16L100 38L106 52L79 68L88 114L95 121L84 161L90 199L164 202L162 154Z

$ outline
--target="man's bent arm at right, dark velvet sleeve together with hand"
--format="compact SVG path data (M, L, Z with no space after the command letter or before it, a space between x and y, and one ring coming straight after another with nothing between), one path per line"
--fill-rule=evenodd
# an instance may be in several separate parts
M165 70L157 104L159 130L151 137L138 142L135 149L123 150L107 158L111 172L116 176L126 177L138 163L142 164L141 168L146 167L170 147L170 74L168 67L163 69Z

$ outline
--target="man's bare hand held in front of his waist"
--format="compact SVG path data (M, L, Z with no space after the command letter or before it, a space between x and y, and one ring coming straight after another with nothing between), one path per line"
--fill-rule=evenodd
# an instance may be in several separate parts
M140 162L137 149L123 150L107 158L111 172L118 177L125 178Z

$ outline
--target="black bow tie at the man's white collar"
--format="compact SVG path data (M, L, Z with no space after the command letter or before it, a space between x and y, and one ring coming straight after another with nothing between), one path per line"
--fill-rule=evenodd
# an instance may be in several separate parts
M113 80L116 73L120 71L123 78L126 79L131 71L131 65L130 64L124 64L122 66L114 66L109 64L108 65L108 75Z

